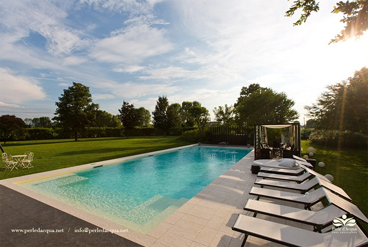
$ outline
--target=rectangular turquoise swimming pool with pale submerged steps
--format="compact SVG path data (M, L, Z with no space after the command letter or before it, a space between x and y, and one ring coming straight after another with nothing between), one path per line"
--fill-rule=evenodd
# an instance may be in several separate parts
M21 186L147 233L250 151L190 147Z

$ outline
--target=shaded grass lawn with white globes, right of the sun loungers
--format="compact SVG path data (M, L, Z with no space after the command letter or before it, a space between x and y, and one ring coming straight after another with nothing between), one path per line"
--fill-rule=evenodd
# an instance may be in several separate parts
M353 199L353 203L368 215L368 150L323 147L312 144L310 141L301 141L304 149L301 156L308 155L307 148L314 147L316 152L309 158L316 159L315 171L322 175L331 174L334 177L333 184L341 187ZM325 167L319 167L318 162L325 163ZM367 232L368 226L361 224Z

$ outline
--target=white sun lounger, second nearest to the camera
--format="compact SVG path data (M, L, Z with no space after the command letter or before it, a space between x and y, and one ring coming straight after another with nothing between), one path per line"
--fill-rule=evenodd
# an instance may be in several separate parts
M312 225L314 231L319 232L321 232L321 229L331 225L336 217L341 218L343 215L348 214L348 212L345 212L335 205L328 205L319 211L309 211L252 199L248 199L244 210L254 212L253 217L257 214L264 214Z

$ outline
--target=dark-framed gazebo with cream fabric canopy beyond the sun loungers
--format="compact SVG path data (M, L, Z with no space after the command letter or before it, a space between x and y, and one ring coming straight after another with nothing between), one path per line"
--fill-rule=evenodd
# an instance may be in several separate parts
M281 134L269 140L268 129L280 129ZM270 132L270 131L269 131ZM269 144L270 142L270 144ZM272 143L272 144L271 144ZM254 159L300 157L300 123L256 124L254 126Z

